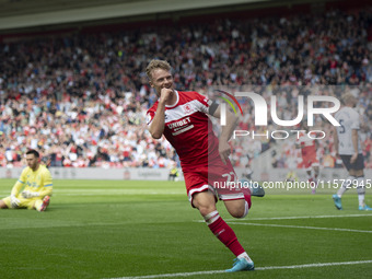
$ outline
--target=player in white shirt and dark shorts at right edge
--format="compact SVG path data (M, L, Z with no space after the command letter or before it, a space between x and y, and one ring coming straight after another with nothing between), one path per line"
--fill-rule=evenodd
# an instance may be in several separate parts
M342 209L341 197L344 193L352 186L357 187L359 210L372 210L364 202L365 182L364 182L364 159L360 144L358 131L360 129L360 116L353 109L358 101L351 93L342 95L344 107L337 112L335 118L340 124L335 128L334 141L336 154L340 155L349 176L345 179L337 194L333 196L335 206L338 210Z

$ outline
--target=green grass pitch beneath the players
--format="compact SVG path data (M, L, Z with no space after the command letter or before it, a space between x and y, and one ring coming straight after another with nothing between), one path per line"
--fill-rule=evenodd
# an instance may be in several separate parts
M14 182L0 179L0 197ZM231 252L198 222L183 182L54 181L54 189L45 212L0 210L1 278L114 278L232 266ZM371 278L371 263L259 270L372 260L372 212L358 210L357 191L342 197L341 211L332 200L335 189L309 191L269 189L253 198L243 220L218 202L258 270L188 278ZM371 189L367 202L372 206Z

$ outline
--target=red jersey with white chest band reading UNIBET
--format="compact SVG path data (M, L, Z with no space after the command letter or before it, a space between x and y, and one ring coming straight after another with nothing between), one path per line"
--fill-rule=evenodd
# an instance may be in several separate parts
M165 106L163 135L176 150L184 171L207 166L208 160L220 156L219 141L207 116L212 102L197 92L175 91L175 105ZM148 125L155 116L158 103L147 113Z

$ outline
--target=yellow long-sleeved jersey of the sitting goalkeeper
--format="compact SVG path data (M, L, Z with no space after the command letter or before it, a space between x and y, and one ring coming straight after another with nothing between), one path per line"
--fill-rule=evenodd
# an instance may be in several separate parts
M23 187L24 190L38 191L40 197L50 196L53 182L49 170L45 165L39 165L35 172L30 166L25 167L11 194L16 196Z

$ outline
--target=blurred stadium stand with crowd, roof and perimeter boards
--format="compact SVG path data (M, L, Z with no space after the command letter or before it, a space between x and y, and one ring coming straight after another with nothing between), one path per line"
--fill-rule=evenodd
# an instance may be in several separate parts
M318 94L336 97L351 90L371 168L371 40L369 1L0 0L0 177L19 176L28 148L56 178L91 177L85 167L167 177L177 155L144 125L155 101L144 68L154 57L174 66L177 89L256 84L267 100L277 94L283 117L304 88L325 85ZM256 130L253 106L241 105L240 128ZM321 126L329 130L318 148L323 175L341 177L330 127ZM302 166L292 141L247 139L235 151L236 170L251 164L256 179Z

